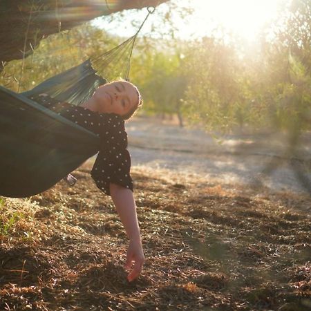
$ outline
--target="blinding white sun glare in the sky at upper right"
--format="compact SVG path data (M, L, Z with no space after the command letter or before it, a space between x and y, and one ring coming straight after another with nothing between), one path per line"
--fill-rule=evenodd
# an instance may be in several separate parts
M276 17L281 0L193 0L194 15L186 21L182 37L208 35L216 26L247 41L256 40L258 31Z

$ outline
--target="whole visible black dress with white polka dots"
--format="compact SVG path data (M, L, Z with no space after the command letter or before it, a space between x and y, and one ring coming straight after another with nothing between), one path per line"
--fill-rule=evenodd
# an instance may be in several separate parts
M95 113L67 102L57 102L44 94L31 99L100 136L101 147L91 171L99 189L110 196L109 185L113 182L133 191L131 157L127 150L127 134L122 117L113 113Z

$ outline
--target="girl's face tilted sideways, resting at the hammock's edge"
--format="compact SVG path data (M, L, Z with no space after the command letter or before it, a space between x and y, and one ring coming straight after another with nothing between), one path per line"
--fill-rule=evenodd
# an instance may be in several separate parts
M111 82L97 88L94 95L99 113L126 115L138 106L138 91L124 81Z

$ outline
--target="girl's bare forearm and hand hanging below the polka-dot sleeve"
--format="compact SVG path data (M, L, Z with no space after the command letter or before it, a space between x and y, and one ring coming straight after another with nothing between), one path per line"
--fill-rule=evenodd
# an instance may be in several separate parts
M142 250L135 200L133 192L130 189L113 183L110 183L110 194L115 203L117 214L119 214L130 240L125 267L126 269L130 269L132 262L134 263L133 270L127 276L127 279L131 282L140 276L144 264L144 252Z

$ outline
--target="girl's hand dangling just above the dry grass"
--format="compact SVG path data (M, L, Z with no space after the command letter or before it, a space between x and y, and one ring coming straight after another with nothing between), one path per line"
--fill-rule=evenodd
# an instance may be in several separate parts
M131 270L132 265L134 266ZM125 269L127 271L131 270L131 272L127 276L129 282L137 279L138 276L140 276L143 265L144 252L142 250L142 242L140 241L140 238L136 240L130 240L125 263Z

